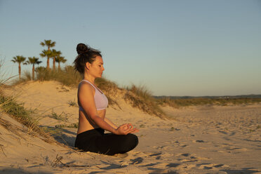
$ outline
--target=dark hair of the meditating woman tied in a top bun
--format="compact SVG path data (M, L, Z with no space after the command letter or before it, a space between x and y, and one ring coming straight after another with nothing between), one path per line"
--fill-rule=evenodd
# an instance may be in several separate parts
M76 51L78 56L74 60L74 68L81 74L84 73L86 62L93 63L96 56L102 57L100 51L95 50L86 44L78 44Z

